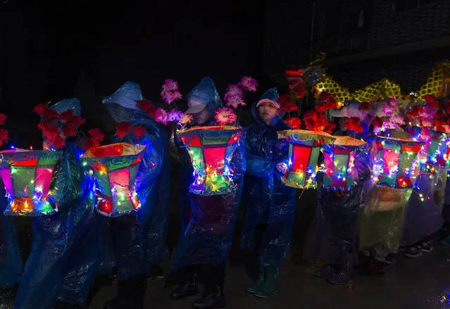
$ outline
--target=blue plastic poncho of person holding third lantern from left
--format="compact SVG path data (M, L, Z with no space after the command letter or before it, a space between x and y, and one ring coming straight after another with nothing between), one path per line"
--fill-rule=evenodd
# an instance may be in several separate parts
M197 96L207 102L210 121L206 125L216 125L214 115L222 105L215 85L210 77L203 80L192 90L189 97ZM234 172L233 182L237 187L228 194L201 196L189 193L189 184L193 181L192 164L187 151L183 151L182 174L180 175L180 224L187 218L187 210L192 209L192 218L184 229L172 255L170 272L180 270L187 265L211 265L217 267L223 263L230 251L239 202L242 194L242 182L246 168L244 139L241 137L230 161L230 170Z

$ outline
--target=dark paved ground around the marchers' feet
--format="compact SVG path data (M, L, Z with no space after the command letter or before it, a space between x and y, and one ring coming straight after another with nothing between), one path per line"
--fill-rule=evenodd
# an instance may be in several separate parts
M229 267L225 285L227 308L450 308L444 297L450 297L450 248L435 246L435 251L417 259L396 257L383 276L356 276L352 286L334 286L313 276L313 269L294 265L287 259L280 273L280 290L276 296L258 299L247 294L251 283L243 267ZM171 289L164 280L149 282L146 308L190 308L192 300L171 301ZM94 297L89 308L102 308L115 293L115 286L105 286ZM448 295L448 296L446 296Z

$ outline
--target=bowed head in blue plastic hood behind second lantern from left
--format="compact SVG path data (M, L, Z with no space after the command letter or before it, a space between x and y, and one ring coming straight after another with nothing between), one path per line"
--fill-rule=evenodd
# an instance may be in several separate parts
M111 96L105 96L101 102L106 104L115 122L135 122L144 117L144 112L137 105L137 101L141 100L143 97L139 85L135 82L125 82Z

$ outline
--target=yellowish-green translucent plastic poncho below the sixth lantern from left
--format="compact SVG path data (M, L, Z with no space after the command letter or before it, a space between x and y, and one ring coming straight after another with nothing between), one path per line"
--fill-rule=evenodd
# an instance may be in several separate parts
M359 249L373 255L395 253L404 228L404 212L412 189L375 185L361 214Z

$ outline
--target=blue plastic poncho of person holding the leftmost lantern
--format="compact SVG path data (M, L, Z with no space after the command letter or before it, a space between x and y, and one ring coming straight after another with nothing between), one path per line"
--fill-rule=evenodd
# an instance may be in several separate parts
M79 113L77 99L63 100L54 108ZM56 299L85 305L94 283L98 250L92 179L80 165L80 149L66 141L54 175L58 213L33 220L32 251L20 279L15 308L54 308Z

